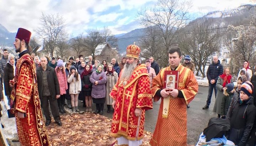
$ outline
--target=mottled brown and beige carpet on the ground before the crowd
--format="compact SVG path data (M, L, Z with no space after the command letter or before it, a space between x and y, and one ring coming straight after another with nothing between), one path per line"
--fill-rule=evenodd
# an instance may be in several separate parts
M52 122L47 126L49 139L54 146L110 146L111 119L93 113L65 114L62 126ZM149 146L152 133L144 131L143 146Z

